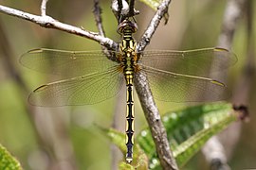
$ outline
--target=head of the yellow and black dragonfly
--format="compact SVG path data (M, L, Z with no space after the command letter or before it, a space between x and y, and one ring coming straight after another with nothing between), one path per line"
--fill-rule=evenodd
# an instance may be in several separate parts
M137 32L137 24L128 19L123 20L123 22L119 24L118 31L120 34L135 33Z

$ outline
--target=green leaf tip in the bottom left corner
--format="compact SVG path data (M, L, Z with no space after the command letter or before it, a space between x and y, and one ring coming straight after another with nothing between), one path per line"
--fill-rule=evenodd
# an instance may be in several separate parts
M10 155L7 149L0 144L0 169L18 170L22 169L19 161Z

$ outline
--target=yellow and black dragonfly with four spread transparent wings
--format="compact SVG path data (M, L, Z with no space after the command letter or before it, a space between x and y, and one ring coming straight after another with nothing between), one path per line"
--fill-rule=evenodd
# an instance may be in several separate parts
M91 105L119 93L126 85L126 161L133 161L134 145L134 79L145 74L155 99L166 102L222 100L227 86L210 77L236 62L236 56L224 48L203 48L189 51L145 50L137 52L133 34L137 24L124 20L119 24L119 50L64 51L34 49L20 62L27 68L54 75L63 80L35 89L28 102L35 106ZM207 95L207 98L202 97Z

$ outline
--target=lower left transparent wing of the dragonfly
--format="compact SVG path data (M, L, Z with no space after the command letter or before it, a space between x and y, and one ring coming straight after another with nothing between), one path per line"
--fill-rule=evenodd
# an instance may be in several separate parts
M98 72L43 85L30 93L28 101L36 106L89 105L119 93L122 75L113 67Z

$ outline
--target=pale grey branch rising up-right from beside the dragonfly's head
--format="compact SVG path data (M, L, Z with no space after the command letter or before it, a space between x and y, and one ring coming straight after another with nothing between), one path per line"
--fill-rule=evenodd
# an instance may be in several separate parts
M144 32L143 36L137 44L138 52L143 51L145 47L149 44L157 26L159 26L160 21L163 18L164 14L167 12L171 2L172 0L164 0L157 8L155 15L150 22L150 25L147 27L146 31Z

